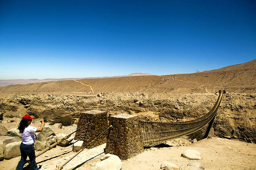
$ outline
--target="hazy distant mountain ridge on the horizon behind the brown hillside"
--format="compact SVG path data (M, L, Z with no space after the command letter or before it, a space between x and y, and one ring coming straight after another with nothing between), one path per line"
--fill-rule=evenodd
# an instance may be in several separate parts
M128 75L118 75L112 77L87 77L87 78L63 78L63 79L14 79L14 80L0 80L0 86L8 86L15 84L30 84L30 83L42 83L50 81L64 81L64 80L81 80L81 79L106 79L106 78L117 78L117 77L129 77L129 76L141 76L141 75L153 75L149 73L132 73Z

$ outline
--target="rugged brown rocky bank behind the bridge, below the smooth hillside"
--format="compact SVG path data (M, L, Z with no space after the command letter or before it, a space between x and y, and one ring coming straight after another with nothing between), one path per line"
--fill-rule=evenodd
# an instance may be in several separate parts
M256 94L228 93L224 96L213 123L213 133L256 143ZM209 112L218 94L115 93L102 92L87 96L46 94L0 94L0 112L4 116L54 120L101 110L108 115L132 114L140 120L179 122L199 118ZM198 136L198 135L197 135Z

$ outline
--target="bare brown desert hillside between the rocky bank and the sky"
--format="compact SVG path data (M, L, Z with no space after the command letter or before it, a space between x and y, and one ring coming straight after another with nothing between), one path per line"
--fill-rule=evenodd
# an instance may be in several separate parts
M254 93L256 91L256 60L224 68L191 74L144 75L115 78L50 81L0 87L0 93L65 93L65 92L168 92Z

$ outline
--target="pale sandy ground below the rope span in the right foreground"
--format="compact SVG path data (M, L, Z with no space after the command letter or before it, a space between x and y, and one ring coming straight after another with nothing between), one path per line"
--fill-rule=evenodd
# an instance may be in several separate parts
M151 147L137 156L122 161L122 170L160 170L165 161L172 162L186 170L190 161L181 156L187 149L197 150L201 153L200 162L205 170L253 170L256 169L256 144L238 140L229 140L213 137L191 143L183 138L167 142L166 147ZM91 169L98 159L78 168Z

